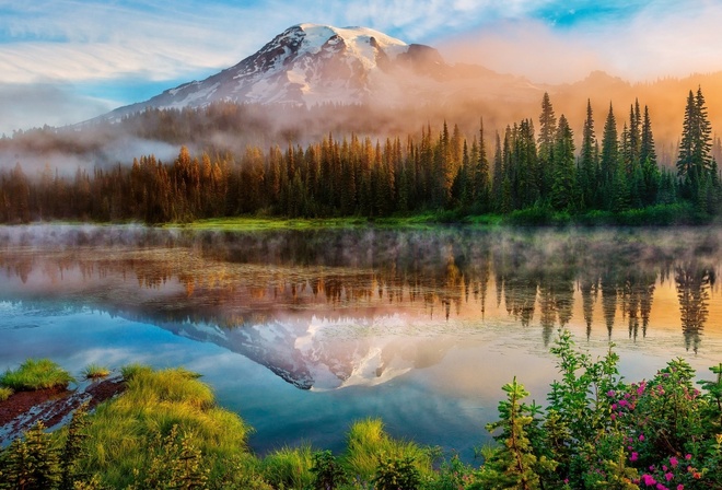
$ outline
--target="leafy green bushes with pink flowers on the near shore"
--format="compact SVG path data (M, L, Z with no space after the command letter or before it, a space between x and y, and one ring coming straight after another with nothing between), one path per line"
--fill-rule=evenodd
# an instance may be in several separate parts
M707 489L722 482L722 364L694 387L694 370L671 361L652 380L626 384L609 350L593 361L561 331L552 352L561 381L546 410L504 387L490 450L466 488Z

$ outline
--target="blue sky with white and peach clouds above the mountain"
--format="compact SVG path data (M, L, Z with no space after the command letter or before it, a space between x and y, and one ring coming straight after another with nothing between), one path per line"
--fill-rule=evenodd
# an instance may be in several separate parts
M202 80L303 22L376 28L534 82L722 70L722 0L0 0L0 133Z

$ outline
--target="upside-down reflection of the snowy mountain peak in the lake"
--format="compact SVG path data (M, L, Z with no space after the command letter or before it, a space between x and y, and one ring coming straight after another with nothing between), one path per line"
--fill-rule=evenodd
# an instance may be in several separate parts
M427 335L409 335L409 318L398 314L336 318L313 315L236 329L190 322L159 325L245 355L298 388L328 390L380 385L428 366L429 349L435 352L431 358L443 358L450 346L444 347L434 336L439 326L419 318L414 323L423 324Z

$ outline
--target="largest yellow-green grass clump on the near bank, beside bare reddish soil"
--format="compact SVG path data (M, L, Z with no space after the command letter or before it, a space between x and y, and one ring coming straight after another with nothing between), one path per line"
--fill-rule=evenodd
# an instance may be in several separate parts
M153 460L149 447L167 436L174 425L179 434L190 434L211 478L225 474L232 462L248 460L251 429L236 413L216 406L213 392L196 373L183 369L154 372L138 364L121 372L126 392L97 408L88 431L84 467L101 474L105 486L131 485L133 469L142 472Z

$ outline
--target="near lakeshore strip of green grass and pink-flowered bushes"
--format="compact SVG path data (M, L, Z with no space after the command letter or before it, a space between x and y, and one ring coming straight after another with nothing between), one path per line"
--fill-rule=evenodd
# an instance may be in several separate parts
M216 406L197 374L131 365L123 396L53 435L38 427L0 453L0 488L720 488L722 364L698 389L680 359L628 383L612 350L592 359L568 331L551 351L560 381L546 407L527 404L515 378L504 385L499 420L487 424L498 444L481 448L477 465L395 440L379 419L350 427L337 456L301 445L259 458L246 444L251 429Z

